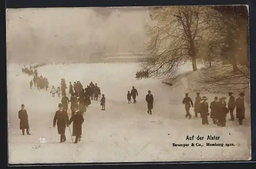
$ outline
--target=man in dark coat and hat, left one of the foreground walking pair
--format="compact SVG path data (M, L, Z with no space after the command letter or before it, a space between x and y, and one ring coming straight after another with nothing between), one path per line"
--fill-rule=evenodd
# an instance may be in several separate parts
M60 142L65 142L66 141L66 126L69 126L69 116L68 112L63 109L63 105L59 103L58 105L59 109L55 112L55 116L53 118L53 127L56 126L58 127L58 134L60 134Z

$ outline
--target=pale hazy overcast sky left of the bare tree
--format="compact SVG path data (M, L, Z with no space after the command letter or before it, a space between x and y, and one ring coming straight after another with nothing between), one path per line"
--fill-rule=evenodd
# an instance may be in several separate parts
M150 17L147 10L41 8L8 9L6 19L10 60L68 58L102 47L113 52L143 50Z

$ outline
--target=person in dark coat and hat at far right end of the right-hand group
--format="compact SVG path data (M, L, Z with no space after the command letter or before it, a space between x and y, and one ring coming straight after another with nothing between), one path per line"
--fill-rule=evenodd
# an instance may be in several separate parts
M245 118L244 93L240 93L239 98L236 100L236 114L239 125L242 125Z

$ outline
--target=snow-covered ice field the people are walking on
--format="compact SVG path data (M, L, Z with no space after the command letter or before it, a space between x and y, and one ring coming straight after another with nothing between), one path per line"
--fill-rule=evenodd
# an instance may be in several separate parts
M213 125L210 118L209 125L203 126L200 118L194 118L193 109L190 109L193 118L185 118L182 99L186 80L172 87L158 79L136 80L138 69L136 63L48 65L38 68L39 75L49 79L50 87L60 85L60 78L65 78L67 85L70 81L80 80L86 86L93 81L98 83L106 97L105 111L100 110L101 106L96 101L89 106L84 115L81 142L73 144L67 128L67 141L59 144L57 129L52 125L60 98L52 98L49 91L30 90L32 76L22 73L17 64L7 65L9 163L250 159L249 105L246 106L246 119L242 126L238 126L237 121L228 121L225 128L220 128ZM136 104L127 104L126 93L131 91L132 86L138 90L139 96ZM148 90L154 96L153 115L146 112L145 95ZM206 96L210 102L215 95ZM194 93L190 97L195 100ZM22 135L19 130L17 116L22 103L28 111L31 135ZM220 140L187 141L187 135L217 135ZM39 142L42 137L46 143ZM232 143L235 146L173 147L173 143Z

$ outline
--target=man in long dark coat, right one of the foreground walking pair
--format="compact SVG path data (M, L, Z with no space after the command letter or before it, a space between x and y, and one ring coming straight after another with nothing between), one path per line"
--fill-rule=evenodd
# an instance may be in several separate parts
M76 136L75 142L77 143L78 140L80 141L82 135L82 123L84 119L82 117L82 112L78 110L77 106L74 106L75 113L69 120L69 125L73 122L73 133L72 136Z

